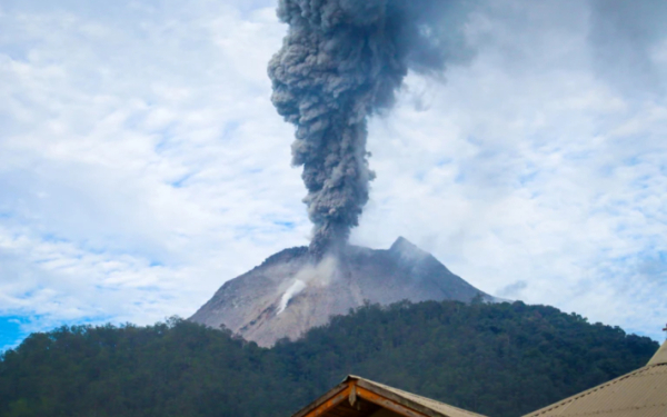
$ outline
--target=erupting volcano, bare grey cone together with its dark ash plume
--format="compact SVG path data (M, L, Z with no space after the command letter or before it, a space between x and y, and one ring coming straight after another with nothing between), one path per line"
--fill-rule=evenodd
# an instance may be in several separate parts
M389 250L348 245L375 177L368 118L391 108L409 70L441 78L471 57L462 36L470 4L280 0L289 28L268 72L276 109L296 126L292 163L303 167L312 239L225 284L191 320L270 346L366 300L494 300L402 238Z

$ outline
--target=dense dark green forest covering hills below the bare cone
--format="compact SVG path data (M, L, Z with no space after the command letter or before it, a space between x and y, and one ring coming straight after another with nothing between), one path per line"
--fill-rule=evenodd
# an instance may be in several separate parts
M641 367L657 348L522 302L367 305L270 349L178 318L61 327L0 357L0 416L288 417L355 374L516 417Z

